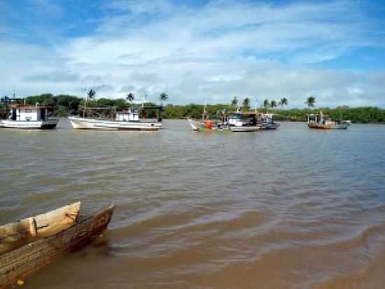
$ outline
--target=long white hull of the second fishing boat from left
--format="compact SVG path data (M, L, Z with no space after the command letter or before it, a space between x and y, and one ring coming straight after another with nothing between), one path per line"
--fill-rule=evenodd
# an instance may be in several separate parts
M87 119L78 116L69 116L69 121L74 129L158 130L162 128L162 123L159 122L109 121L104 119Z

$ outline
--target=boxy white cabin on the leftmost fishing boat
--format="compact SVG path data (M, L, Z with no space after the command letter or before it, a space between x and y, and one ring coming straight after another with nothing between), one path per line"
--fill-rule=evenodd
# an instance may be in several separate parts
M13 121L47 121L48 107L36 105L11 105L9 119Z

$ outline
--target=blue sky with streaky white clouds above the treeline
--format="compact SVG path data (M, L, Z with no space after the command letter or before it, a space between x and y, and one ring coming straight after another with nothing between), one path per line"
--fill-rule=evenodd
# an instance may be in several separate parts
M385 0L0 0L0 95L385 107Z

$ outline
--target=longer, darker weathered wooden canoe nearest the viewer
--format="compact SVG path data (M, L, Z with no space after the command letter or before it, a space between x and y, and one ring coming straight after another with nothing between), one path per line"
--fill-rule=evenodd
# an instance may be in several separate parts
M15 284L19 279L102 234L111 220L114 208L110 206L90 216L80 215L72 227L0 255L0 288Z

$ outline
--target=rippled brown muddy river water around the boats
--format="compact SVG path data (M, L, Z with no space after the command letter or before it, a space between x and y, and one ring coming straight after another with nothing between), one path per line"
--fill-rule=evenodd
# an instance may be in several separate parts
M34 288L385 288L385 126L0 130L0 223L116 203Z

